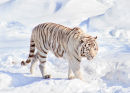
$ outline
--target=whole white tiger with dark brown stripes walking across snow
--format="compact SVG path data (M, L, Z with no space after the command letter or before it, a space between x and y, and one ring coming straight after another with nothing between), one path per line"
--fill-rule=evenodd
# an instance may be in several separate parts
M51 78L45 69L47 53L51 51L56 57L62 57L68 61L68 78L78 78L83 80L80 70L82 57L92 60L98 51L96 42L97 36L92 37L84 33L79 27L68 28L55 23L43 23L36 26L31 35L30 53L26 62L21 65L26 66L31 61L30 73L34 72L35 65L39 59L40 71L44 79ZM35 47L37 52L35 52Z

